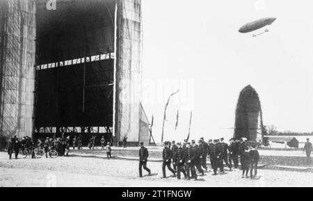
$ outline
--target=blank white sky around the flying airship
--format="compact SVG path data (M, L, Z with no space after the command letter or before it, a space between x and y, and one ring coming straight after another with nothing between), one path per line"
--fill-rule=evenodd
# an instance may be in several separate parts
M291 0L143 0L143 107L161 141L232 137L240 91L254 87L264 125L313 131L312 2ZM239 33L277 17L268 33ZM255 31L262 33L265 28ZM179 121L175 122L177 111Z

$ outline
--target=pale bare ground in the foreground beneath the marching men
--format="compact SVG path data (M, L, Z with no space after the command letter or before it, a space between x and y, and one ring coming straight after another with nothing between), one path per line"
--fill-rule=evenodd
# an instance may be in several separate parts
M148 162L151 177L138 177L138 161L92 157L8 159L0 152L0 186L313 186L313 173L259 170L259 180L241 171L206 173L200 181L161 179L161 162ZM143 171L144 175L146 174ZM167 172L170 176L169 171Z

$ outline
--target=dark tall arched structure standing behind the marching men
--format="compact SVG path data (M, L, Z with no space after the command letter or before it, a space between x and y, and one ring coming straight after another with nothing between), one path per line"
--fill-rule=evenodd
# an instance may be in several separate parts
M257 140L258 119L263 128L262 109L257 91L250 85L245 87L236 106L234 138L246 137L248 141Z

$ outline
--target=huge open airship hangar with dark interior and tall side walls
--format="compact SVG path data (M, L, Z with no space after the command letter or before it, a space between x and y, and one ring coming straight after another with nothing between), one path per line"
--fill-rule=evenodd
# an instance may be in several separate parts
M62 133L149 143L141 0L55 2L0 1L1 147Z

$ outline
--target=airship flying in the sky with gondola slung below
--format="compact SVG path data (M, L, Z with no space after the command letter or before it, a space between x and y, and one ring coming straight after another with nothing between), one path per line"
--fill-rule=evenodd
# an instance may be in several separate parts
M263 28L264 26L271 25L275 20L276 20L275 17L265 17L262 19L251 21L248 24L241 26L241 28L239 29L239 33L250 33L254 30ZM265 32L268 32L268 30L266 29ZM257 35L253 35L253 36L255 37Z

